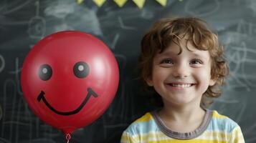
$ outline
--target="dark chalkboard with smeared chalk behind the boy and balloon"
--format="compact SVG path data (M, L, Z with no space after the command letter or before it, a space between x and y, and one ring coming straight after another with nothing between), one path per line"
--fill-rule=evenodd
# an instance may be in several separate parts
M32 46L63 30L97 36L113 51L120 68L118 92L109 109L74 132L70 142L119 142L128 124L154 109L141 96L135 67L143 34L153 21L169 16L196 16L217 30L231 76L210 108L240 124L246 142L256 142L255 7L254 0L169 0L166 6L148 0L141 9L131 0L121 8L110 0L101 7L93 0L1 0L0 142L66 142L62 132L32 113L20 87L22 63Z

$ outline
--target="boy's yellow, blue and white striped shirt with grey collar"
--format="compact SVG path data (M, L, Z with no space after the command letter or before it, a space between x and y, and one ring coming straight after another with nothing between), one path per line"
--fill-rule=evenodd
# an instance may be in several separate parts
M232 119L207 109L204 121L194 132L173 132L163 124L157 112L148 112L123 132L121 143L244 143L240 126Z

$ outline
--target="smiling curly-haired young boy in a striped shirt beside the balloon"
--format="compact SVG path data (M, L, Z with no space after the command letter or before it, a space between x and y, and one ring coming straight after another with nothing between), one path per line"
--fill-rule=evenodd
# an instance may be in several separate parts
M123 132L121 142L245 142L239 125L206 109L228 74L217 35L196 18L161 19L141 41L141 77L163 107Z

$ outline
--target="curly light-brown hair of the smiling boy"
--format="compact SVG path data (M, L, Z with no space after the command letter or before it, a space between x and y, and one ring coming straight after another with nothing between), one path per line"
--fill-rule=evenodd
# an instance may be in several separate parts
M155 105L162 106L163 102L153 87L146 84L146 79L152 76L153 58L157 53L161 54L171 42L179 45L181 36L182 38L186 36L186 42L190 41L196 49L209 51L211 57L211 77L216 83L204 92L201 106L208 107L212 104L212 97L220 96L220 86L224 84L224 79L229 74L229 67L224 59L224 49L219 44L217 34L207 26L207 22L194 17L160 19L143 36L138 67L145 89L151 93L153 97L151 102ZM181 54L182 49L180 45L179 47L179 54Z

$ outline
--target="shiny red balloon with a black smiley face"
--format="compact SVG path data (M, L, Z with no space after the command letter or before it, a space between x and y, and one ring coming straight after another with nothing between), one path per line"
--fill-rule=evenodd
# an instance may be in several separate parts
M115 56L102 41L80 31L61 31L29 51L21 81L34 114L71 134L109 107L119 71Z

